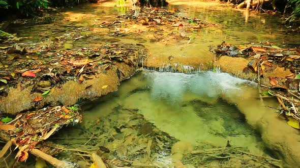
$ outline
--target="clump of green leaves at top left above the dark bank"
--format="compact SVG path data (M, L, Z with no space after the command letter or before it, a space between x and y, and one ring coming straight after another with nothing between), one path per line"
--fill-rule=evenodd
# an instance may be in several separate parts
M16 8L24 15L34 15L37 11L48 8L49 1L47 0L18 0Z

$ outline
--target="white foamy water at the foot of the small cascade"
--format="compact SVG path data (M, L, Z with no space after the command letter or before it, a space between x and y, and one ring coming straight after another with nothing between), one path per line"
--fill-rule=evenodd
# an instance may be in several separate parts
M241 85L252 82L233 77L228 73L199 72L197 74L156 72L146 70L148 81L153 82L152 96L179 99L185 92L208 97L241 91ZM252 84L253 85L253 84Z

